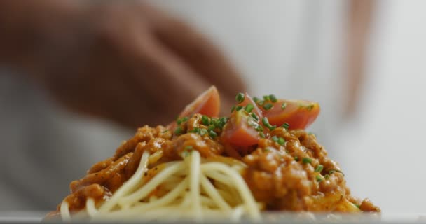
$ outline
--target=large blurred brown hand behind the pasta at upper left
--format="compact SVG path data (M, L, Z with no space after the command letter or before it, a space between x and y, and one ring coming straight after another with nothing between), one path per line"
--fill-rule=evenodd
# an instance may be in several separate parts
M45 20L28 69L69 109L127 127L158 125L210 85L226 111L245 90L224 55L177 18L140 1L82 2L84 10Z

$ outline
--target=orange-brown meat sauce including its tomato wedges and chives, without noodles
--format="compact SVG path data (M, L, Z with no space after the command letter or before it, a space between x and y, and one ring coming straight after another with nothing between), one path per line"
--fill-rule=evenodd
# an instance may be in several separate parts
M135 173L146 151L153 155L151 167L156 167L144 173L148 178L156 176L164 162L198 151L203 159L242 162L242 176L264 210L380 212L368 199L350 194L341 168L315 135L304 130L320 112L317 103L238 94L231 116L218 117L218 99L217 90L211 88L170 125L139 128L111 158L97 162L86 176L71 182L71 194L64 199L69 211L84 209L88 197L95 204L109 200ZM206 109L214 113L206 114ZM49 216L59 211L60 206Z

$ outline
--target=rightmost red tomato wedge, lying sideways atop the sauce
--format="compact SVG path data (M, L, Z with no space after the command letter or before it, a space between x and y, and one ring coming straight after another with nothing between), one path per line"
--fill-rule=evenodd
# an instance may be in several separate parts
M285 104L284 109L282 105ZM273 108L262 108L263 116L267 117L271 125L288 123L290 129L305 129L317 119L320 113L320 104L306 100L279 99L273 103Z

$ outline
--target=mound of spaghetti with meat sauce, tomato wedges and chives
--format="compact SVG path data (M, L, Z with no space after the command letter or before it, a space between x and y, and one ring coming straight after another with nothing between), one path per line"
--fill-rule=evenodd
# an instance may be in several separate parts
M261 219L262 211L380 212L350 194L314 134L316 102L239 93L219 117L215 87L170 125L140 127L97 162L48 217Z

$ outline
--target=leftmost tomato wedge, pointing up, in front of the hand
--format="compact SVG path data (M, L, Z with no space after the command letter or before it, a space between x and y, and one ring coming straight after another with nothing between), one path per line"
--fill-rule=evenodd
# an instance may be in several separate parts
M213 85L208 90L202 92L191 104L188 104L184 111L179 114L179 118L192 116L194 113L201 113L209 117L219 116L220 98L217 88ZM176 122L168 125L169 129L176 127Z

